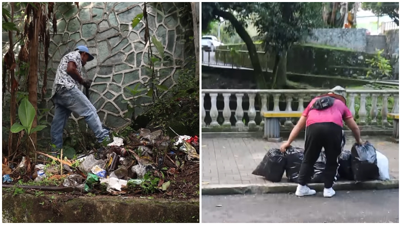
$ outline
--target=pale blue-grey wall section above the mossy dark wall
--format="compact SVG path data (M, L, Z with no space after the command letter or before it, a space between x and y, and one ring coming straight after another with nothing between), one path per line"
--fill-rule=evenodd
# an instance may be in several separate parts
M366 29L315 29L312 31L312 35L307 37L306 42L364 52L366 50Z

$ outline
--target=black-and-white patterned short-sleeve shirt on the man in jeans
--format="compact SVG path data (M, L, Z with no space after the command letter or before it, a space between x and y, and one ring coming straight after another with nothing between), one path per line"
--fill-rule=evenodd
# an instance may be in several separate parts
M82 62L81 62L81 55L79 54L79 52L74 51L66 54L64 57L62 57L61 62L57 67L56 79L54 80L53 83L53 90L51 97L53 97L54 94L56 94L56 92L63 87L65 87L67 90L70 90L75 87L79 88L78 81L75 81L67 73L67 65L69 62L75 62L75 64L77 65L78 72L82 74L81 73Z

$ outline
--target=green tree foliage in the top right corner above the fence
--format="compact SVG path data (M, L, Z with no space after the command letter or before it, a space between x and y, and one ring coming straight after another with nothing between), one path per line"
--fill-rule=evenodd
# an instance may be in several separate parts
M399 19L399 3L362 3L363 10L372 10L376 16L388 15L396 24Z

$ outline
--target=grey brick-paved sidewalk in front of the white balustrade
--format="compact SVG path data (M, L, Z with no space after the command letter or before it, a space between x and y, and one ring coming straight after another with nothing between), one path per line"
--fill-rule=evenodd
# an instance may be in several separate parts
M369 140L389 160L390 177L398 179L398 144L387 137L362 137ZM351 149L353 137L347 137L344 149ZM203 138L202 183L206 184L264 184L272 183L252 171L270 148L281 143L268 142L262 138ZM304 140L297 139L292 145L304 148ZM284 176L285 177L285 173ZM283 178L282 182L287 182Z

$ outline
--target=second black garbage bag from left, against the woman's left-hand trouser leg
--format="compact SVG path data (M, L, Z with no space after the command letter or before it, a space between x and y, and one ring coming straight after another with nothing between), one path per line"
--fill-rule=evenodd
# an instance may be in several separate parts
M304 160L304 149L291 147L285 154L287 164L285 166L285 174L289 181L298 182L298 175L302 160Z

